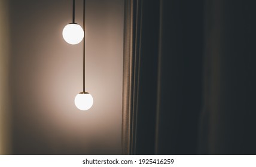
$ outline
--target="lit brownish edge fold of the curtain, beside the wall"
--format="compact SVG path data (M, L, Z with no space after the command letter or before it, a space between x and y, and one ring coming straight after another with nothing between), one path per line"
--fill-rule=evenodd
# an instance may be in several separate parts
M133 1L124 4L124 58L123 58L123 115L122 115L122 151L130 154L132 119L132 78L133 78Z

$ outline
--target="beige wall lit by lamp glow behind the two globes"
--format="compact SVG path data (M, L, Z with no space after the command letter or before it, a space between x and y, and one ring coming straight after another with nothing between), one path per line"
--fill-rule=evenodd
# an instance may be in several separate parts
M74 105L83 91L83 45L62 38L72 1L9 3L13 154L121 154L123 0L86 2L88 111ZM82 10L77 1L81 25Z

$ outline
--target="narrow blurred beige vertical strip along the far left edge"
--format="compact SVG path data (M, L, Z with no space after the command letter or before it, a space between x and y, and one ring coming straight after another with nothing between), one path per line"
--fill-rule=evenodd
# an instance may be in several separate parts
M0 154L11 154L8 90L8 5L0 0Z

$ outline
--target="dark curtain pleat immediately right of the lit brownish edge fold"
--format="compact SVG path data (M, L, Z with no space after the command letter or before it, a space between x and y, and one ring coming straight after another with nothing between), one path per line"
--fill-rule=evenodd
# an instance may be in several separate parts
M154 154L159 39L159 1L139 2L135 154ZM136 74L136 73L135 73ZM150 146L150 147L149 147Z

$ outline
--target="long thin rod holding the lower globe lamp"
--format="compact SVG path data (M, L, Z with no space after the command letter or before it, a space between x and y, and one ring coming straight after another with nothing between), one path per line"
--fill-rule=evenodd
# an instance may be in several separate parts
M84 29L84 39L83 39L83 92L85 93L86 86L86 0L84 0L83 8L83 29Z

